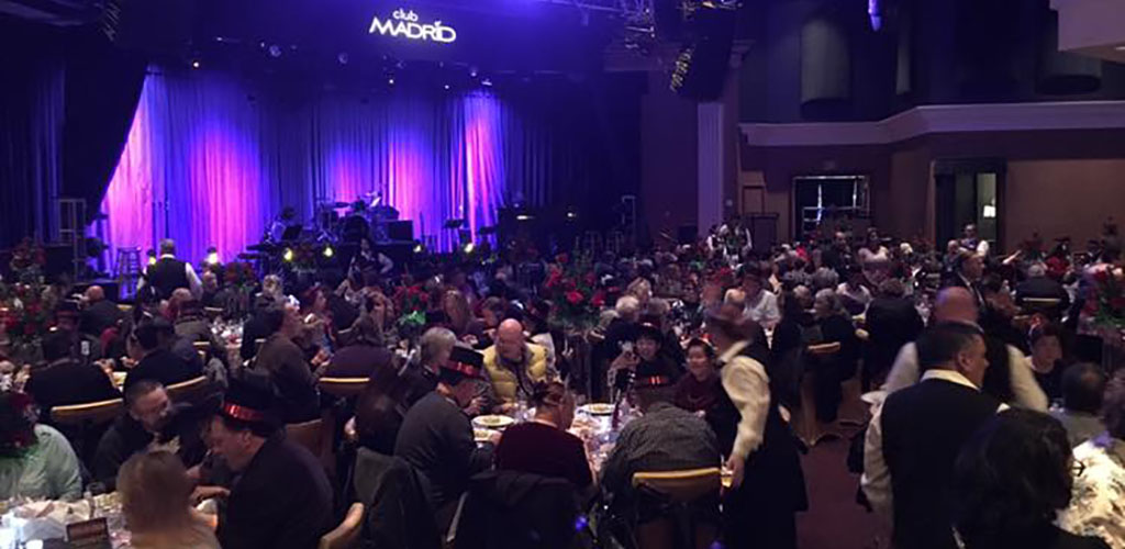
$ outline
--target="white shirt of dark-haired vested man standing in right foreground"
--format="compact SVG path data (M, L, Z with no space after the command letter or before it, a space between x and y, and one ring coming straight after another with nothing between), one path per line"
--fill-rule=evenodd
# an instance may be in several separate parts
M908 345L912 348L914 343L908 343ZM902 357L902 352L899 352L899 357ZM915 366L917 367L917 358L915 359ZM927 379L940 379L971 387L973 390L980 390L969 378L954 370L926 370L926 374L921 376L921 380L925 381ZM886 394L886 396L889 395L890 393ZM891 524L894 516L894 502L891 496L891 469L886 466L886 460L883 458L884 402L885 396L880 398L871 408L871 424L867 425L867 434L863 440L863 476L860 478L860 484L863 486L863 493L867 495L867 502L871 503L875 513L886 520L888 524ZM1008 406L1001 403L997 407L997 412L1007 408Z

